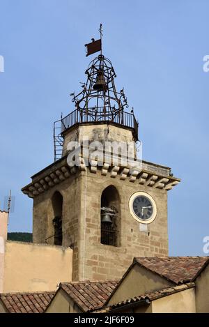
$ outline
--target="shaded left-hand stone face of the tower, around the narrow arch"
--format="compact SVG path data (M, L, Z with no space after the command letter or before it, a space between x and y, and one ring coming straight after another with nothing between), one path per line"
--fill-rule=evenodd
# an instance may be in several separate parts
M78 241L80 219L80 178L78 174L70 176L63 183L33 199L33 242L53 244L54 227L52 219L52 196L59 191L63 196L63 247L73 249L73 271L78 274Z

